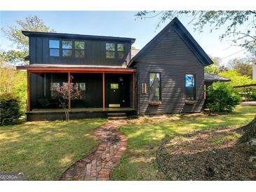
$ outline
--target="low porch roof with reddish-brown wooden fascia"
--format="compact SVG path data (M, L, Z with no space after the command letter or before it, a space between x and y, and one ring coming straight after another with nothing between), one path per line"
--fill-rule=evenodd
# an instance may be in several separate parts
M28 64L17 66L16 69L29 72L74 72L74 73L110 73L110 74L134 74L135 69L114 65L88 65L88 64Z

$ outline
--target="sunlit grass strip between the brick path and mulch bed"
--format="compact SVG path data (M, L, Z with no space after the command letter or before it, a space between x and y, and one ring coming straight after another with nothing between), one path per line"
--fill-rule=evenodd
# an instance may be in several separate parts
M198 116L185 118L173 115L166 121L150 121L149 123L135 123L120 128L128 137L128 149L121 162L112 170L112 180L161 180L166 179L158 170L156 151L163 139L175 137L196 130L206 130L223 127L240 127L252 121L256 114L256 107L236 107L228 115Z

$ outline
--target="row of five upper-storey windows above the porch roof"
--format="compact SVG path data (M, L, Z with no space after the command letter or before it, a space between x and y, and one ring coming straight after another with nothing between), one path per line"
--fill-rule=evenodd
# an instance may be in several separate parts
M62 57L72 57L73 56L73 46L74 46L74 56L84 57L84 41L62 41ZM106 58L123 59L124 54L124 44L121 43L106 43ZM59 40L49 40L49 54L52 57L60 57L60 41Z

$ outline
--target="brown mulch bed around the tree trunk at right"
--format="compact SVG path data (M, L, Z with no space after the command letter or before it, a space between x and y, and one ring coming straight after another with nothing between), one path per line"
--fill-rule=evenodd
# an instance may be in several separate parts
M225 128L175 137L157 161L172 180L256 180L256 146L236 145L240 130Z

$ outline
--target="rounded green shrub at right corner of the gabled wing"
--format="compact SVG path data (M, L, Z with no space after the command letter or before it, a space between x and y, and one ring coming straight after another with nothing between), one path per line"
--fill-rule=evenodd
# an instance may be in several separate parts
M216 82L208 87L208 103L210 112L231 112L239 104L241 96L227 83Z

